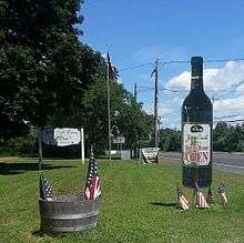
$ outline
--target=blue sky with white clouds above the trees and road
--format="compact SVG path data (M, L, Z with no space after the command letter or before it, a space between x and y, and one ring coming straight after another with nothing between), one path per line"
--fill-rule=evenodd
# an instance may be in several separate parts
M154 102L148 88L154 88L151 73L160 60L161 128L181 126L193 55L205 61L204 88L214 103L214 120L244 119L244 61L231 61L244 59L243 0L85 0L81 14L80 40L110 52L125 89L133 92L138 84L138 100L148 113ZM220 59L230 61L207 62ZM172 60L186 62L164 64ZM143 67L130 69L134 65Z

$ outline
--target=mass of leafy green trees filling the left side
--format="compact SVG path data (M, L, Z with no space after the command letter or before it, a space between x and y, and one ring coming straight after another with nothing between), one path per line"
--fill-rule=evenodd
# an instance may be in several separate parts
M38 128L84 128L87 150L108 148L106 63L82 43L80 0L0 0L0 150L37 151ZM152 119L110 83L112 135L148 140ZM18 152L19 151L19 152Z

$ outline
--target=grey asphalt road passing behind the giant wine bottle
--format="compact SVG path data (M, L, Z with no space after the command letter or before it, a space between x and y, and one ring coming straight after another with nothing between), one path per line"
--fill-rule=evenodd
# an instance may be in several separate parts
M177 152L161 152L160 162L165 161L181 164L181 153ZM213 165L215 169L244 173L244 153L213 153Z

